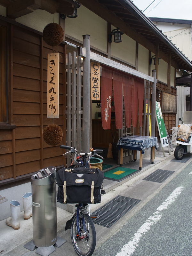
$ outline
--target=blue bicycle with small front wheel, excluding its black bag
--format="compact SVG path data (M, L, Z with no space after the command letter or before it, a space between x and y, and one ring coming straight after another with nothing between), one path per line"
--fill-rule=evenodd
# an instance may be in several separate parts
M68 167L68 169L74 172L75 166L80 167L80 169L77 168L77 170L75 170L75 172L77 172L76 175L79 174L79 176L81 176L84 173L92 173L89 168L90 160L93 156L99 156L100 158L103 159L102 156L97 154L103 153L102 149L94 150L93 148L90 148L89 153L78 153L75 147L72 148L69 146L61 145L60 148L70 150L63 155L66 155L68 153L74 154L73 163L75 163L75 165L72 165L72 163ZM84 168L81 169L81 167ZM105 191L103 190L102 186L103 184L101 185L101 193L104 194ZM72 244L76 253L79 256L90 256L95 250L96 232L92 219L96 219L97 217L97 214L92 214L90 212L90 205L88 203L78 203L76 204L76 211L72 219L66 222L65 230L71 229Z

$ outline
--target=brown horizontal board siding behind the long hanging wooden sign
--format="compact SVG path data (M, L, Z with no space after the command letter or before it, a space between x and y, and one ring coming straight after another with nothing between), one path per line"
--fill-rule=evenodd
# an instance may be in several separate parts
M9 90L12 92L9 109L13 130L0 130L0 180L16 178L47 166L65 164L63 150L43 140L43 129L53 120L46 117L47 45L42 35L12 25L12 68ZM65 45L54 47L60 53L59 118L54 124L63 130L65 144Z

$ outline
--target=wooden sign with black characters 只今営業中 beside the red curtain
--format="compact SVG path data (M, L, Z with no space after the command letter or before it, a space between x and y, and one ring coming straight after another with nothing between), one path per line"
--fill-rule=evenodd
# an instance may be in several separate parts
M91 62L91 100L100 100L100 64Z

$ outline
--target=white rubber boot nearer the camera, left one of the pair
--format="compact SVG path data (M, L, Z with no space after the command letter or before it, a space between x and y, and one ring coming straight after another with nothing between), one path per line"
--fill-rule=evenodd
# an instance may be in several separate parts
M10 201L11 217L7 218L6 224L13 229L20 228L20 203L16 200Z

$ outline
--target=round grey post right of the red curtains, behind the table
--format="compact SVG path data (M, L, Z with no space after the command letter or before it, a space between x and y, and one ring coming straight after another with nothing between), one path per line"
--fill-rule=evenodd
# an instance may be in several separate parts
M152 76L154 77L154 83L152 85L152 96L151 96L151 136L155 136L156 130L156 69L152 70Z

